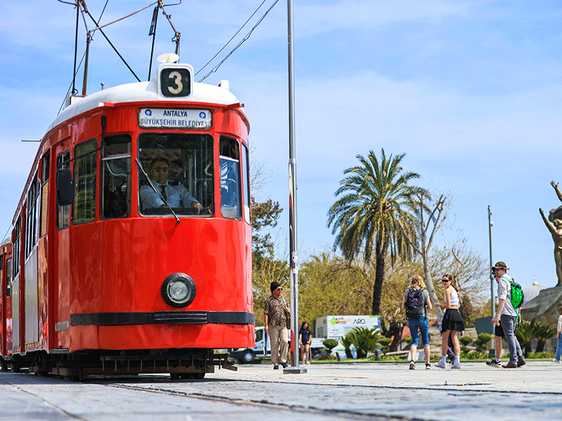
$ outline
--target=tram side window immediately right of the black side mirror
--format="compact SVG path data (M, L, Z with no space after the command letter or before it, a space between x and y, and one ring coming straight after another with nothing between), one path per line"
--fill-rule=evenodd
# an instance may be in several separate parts
M74 148L74 203L72 223L91 222L96 218L96 139Z

